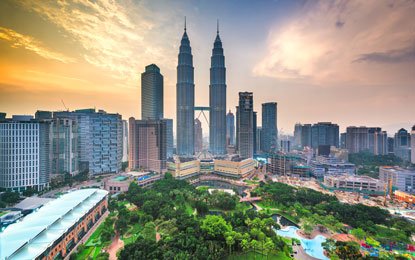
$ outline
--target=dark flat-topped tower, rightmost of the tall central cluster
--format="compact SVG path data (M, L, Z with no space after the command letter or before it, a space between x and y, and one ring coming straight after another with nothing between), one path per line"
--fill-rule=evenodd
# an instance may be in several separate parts
M262 135L261 148L264 152L277 151L278 125L277 102L262 104Z

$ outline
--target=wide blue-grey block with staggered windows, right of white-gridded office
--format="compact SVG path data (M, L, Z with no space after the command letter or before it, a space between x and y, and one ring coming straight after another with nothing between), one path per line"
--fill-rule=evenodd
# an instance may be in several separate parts
M54 118L77 122L79 171L90 174L118 173L123 155L123 130L120 114L103 110L79 109L54 112Z

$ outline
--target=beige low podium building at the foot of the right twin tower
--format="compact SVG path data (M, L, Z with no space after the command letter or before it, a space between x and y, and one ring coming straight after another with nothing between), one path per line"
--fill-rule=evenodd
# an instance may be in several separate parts
M255 160L252 158L241 159L234 157L229 159L215 159L214 173L232 178L242 178L255 171Z

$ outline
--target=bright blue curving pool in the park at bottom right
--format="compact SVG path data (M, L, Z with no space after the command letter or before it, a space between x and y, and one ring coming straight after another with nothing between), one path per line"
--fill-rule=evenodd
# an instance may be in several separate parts
M289 237L289 238L297 238L301 241L301 246L303 247L304 251L315 258L328 260L328 258L324 255L324 249L321 243L326 241L326 238L322 235L317 235L313 239L306 239L297 234L297 227L289 226L284 229L275 230L279 236L282 237Z

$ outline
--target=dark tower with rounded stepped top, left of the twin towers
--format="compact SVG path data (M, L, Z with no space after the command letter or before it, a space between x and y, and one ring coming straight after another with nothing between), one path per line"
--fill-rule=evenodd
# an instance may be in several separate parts
M163 75L156 64L141 74L141 119L163 118Z

